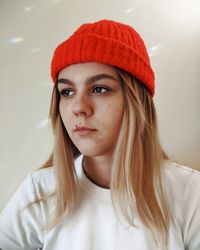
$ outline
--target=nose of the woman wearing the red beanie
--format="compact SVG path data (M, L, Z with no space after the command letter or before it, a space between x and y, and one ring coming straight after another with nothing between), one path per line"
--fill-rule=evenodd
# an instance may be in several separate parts
M93 112L93 108L89 97L84 95L77 95L76 97L74 97L72 112L77 116L90 116Z

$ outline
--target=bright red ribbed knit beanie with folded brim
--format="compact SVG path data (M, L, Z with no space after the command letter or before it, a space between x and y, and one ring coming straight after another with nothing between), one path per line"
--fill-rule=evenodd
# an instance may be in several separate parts
M56 82L60 70L81 62L100 62L131 73L154 95L154 72L144 41L129 25L100 20L81 25L58 45L51 62L51 77Z

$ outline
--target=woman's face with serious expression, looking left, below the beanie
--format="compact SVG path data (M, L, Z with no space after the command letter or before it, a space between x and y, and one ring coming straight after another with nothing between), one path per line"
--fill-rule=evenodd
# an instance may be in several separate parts
M123 117L123 93L115 70L88 62L58 76L59 110L75 146L86 156L112 153Z

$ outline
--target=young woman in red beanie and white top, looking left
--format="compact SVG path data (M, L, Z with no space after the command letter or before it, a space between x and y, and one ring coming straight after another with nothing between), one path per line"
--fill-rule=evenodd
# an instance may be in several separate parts
M145 44L112 20L55 50L52 155L0 217L0 248L199 250L200 173L160 146Z

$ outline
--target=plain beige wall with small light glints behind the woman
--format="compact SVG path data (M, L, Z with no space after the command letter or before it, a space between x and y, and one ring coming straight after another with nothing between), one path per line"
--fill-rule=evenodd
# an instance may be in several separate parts
M0 1L0 208L52 148L48 112L54 47L82 22L135 27L156 74L161 142L200 169L200 2L194 0Z

